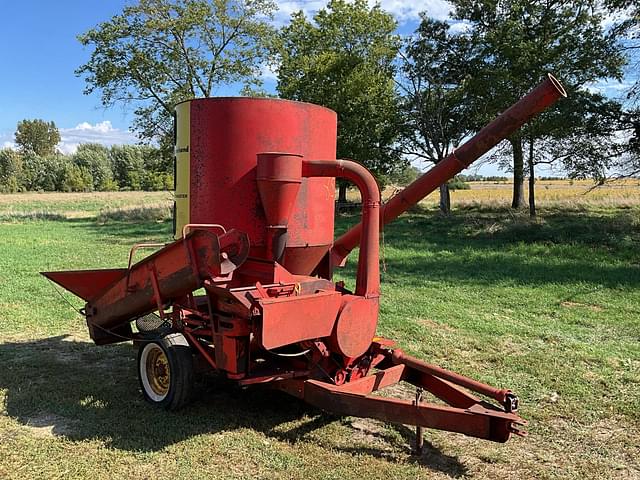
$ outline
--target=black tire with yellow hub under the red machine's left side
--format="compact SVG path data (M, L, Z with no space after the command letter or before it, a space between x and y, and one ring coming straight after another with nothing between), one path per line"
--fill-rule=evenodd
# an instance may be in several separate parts
M138 350L138 378L144 398L166 410L177 410L191 399L193 355L187 339L170 333Z

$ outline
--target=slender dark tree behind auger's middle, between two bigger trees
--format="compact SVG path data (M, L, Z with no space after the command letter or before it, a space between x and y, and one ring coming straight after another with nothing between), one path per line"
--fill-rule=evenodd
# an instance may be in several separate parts
M471 132L466 87L474 71L473 37L452 34L446 22L421 15L401 55L399 82L405 125L402 152L444 160ZM440 186L440 210L451 209L449 185Z

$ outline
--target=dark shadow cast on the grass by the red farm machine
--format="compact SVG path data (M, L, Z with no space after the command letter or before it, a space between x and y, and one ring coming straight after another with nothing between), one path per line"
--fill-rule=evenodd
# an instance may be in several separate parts
M133 452L156 452L193 436L236 429L255 430L295 444L341 419L282 392L240 390L215 377L199 382L199 395L191 405L179 412L165 412L153 408L139 393L135 355L130 344L96 347L67 335L0 343L0 389L6 390L6 412L26 427L46 428L74 441L100 440L111 448ZM302 421L305 418L309 420ZM283 427L288 422L294 426ZM394 451L406 453L414 438L409 428L394 428L402 441L389 432L371 432L391 451L331 448L394 461ZM452 477L465 474L466 467L456 457L428 442L425 451L408 461Z

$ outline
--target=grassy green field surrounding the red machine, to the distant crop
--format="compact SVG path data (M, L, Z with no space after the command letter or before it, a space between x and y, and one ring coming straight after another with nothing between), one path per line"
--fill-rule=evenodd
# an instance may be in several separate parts
M640 478L640 186L540 182L535 222L509 188L385 229L380 333L513 388L530 421L504 445L427 430L421 457L407 427L222 382L152 409L134 349L93 346L80 302L38 272L126 265L169 239L170 195L0 195L0 478Z

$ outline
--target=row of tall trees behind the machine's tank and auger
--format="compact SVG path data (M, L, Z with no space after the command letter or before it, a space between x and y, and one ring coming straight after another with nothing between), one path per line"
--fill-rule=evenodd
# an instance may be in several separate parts
M569 92L498 148L521 208L539 165L603 181L640 173L640 87L626 99L593 88L638 62L640 7L632 0L452 0L452 20L423 13L410 35L380 5L330 0L276 28L270 0L139 0L79 36L91 50L77 74L105 106L134 106L134 129L169 156L173 106L224 86L264 90L338 113L338 156L382 182L415 160L437 163L547 72ZM616 20L617 19L617 20ZM637 63L635 63L637 67ZM636 68L637 72L637 68ZM341 185L343 197L345 185ZM448 210L448 188L441 188Z

